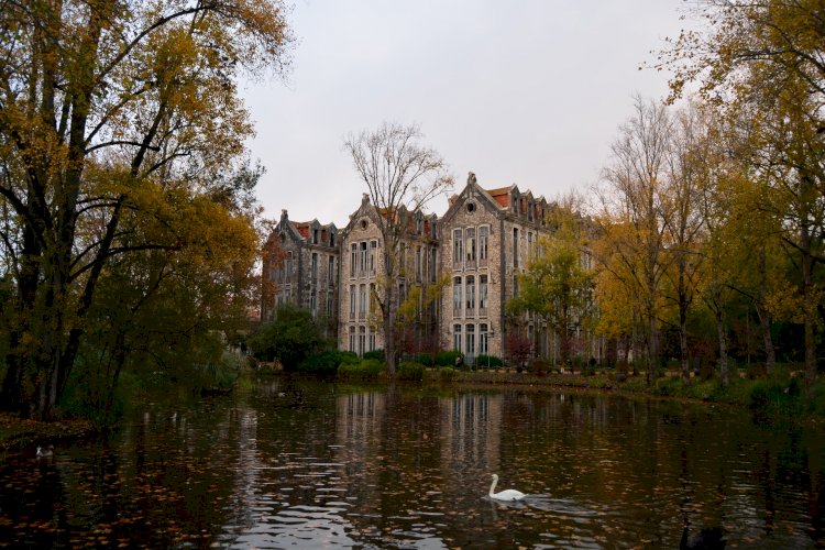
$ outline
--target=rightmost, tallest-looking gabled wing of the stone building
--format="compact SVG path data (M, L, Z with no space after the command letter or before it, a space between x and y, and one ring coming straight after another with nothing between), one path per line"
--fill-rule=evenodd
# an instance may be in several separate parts
M485 190L472 173L450 199L441 220L442 268L450 273L442 298L443 349L461 351L469 361L503 358L513 338L538 332L528 317L508 318L505 305L518 292L516 274L525 272L539 235L550 234L547 208L543 198L515 185Z

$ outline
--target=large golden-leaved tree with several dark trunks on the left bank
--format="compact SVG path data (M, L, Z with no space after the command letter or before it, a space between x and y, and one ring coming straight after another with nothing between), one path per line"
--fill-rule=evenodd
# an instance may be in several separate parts
M284 13L275 0L3 3L3 407L52 416L112 261L187 249L130 218L221 202L211 176L252 131L234 76L284 69Z

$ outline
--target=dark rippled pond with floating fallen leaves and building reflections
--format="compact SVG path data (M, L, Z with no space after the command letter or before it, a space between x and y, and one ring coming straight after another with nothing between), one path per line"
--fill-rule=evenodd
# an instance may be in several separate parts
M0 547L815 548L824 443L710 405L265 380L1 458Z

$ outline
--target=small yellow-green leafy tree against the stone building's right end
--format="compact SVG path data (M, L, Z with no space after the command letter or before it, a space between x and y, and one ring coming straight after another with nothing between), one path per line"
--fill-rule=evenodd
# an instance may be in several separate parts
M590 228L572 199L557 204L547 221L554 232L539 239L538 254L518 275L518 296L507 307L514 314L536 314L547 322L559 337L561 364L565 365L572 334L592 314L593 274L586 267Z

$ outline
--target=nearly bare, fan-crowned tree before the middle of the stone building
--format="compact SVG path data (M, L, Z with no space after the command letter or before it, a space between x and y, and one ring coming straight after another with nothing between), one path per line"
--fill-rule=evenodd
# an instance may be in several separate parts
M377 209L378 230L384 240L383 272L374 296L382 318L387 372L395 374L397 350L394 337L399 306L396 277L403 240L409 228L408 212L422 209L431 199L452 187L447 165L432 148L421 145L417 125L383 123L373 132L349 135L344 148L352 156L355 172L366 185Z

